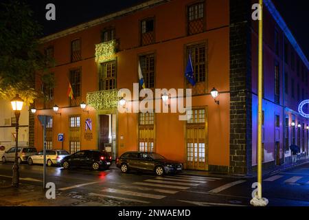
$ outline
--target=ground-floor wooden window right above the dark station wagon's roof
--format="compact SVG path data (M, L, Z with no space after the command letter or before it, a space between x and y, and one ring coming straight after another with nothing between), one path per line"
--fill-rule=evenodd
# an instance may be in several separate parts
M155 113L139 113L139 151L155 151Z

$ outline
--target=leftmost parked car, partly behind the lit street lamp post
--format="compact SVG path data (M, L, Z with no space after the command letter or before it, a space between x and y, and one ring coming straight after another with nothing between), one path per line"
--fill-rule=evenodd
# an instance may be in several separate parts
M29 156L36 154L36 148L30 146L21 146L17 148L18 163L27 162ZM5 151L2 155L2 162L14 162L15 161L15 147L13 146L8 151Z

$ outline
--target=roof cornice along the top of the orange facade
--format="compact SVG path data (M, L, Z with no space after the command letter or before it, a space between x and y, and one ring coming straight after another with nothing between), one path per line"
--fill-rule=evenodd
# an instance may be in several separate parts
M60 32L57 32L55 34L50 34L48 36L45 36L43 38L40 39L40 43L47 43L49 41L53 41L55 39L59 39L63 36L67 36L69 34L73 34L73 33L76 33L76 32L80 32L82 30L85 30L87 28L91 28L93 26L96 26L96 25L100 25L102 23L106 23L108 21L111 21L111 20L114 20L114 19L117 19L119 17L124 17L128 14L132 14L133 12L137 12L139 10L145 10L147 8L152 8L152 7L155 7L157 5L160 5L162 3L166 3L170 0L151 0L151 1L147 1L145 3L141 3L139 5L135 5L133 7L130 7L130 8L126 8L124 10L121 10L119 12L115 12L113 14L108 14L104 17L101 17L99 19L95 19L95 20L92 20L92 21L89 21L89 22L86 22L86 23L82 23L80 25L77 25L73 28L68 28L66 30L62 30Z

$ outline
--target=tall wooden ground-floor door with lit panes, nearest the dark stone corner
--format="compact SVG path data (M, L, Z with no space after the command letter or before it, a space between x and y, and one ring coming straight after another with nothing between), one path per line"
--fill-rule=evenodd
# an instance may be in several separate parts
M194 109L187 121L187 168L207 170L205 109Z

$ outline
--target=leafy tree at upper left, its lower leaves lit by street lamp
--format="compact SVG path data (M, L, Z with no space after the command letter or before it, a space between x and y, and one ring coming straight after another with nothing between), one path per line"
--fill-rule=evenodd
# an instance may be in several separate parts
M25 3L12 0L0 5L0 98L10 100L19 94L30 104L42 95L35 89L35 79L54 87L47 72L53 62L39 49L41 30Z

